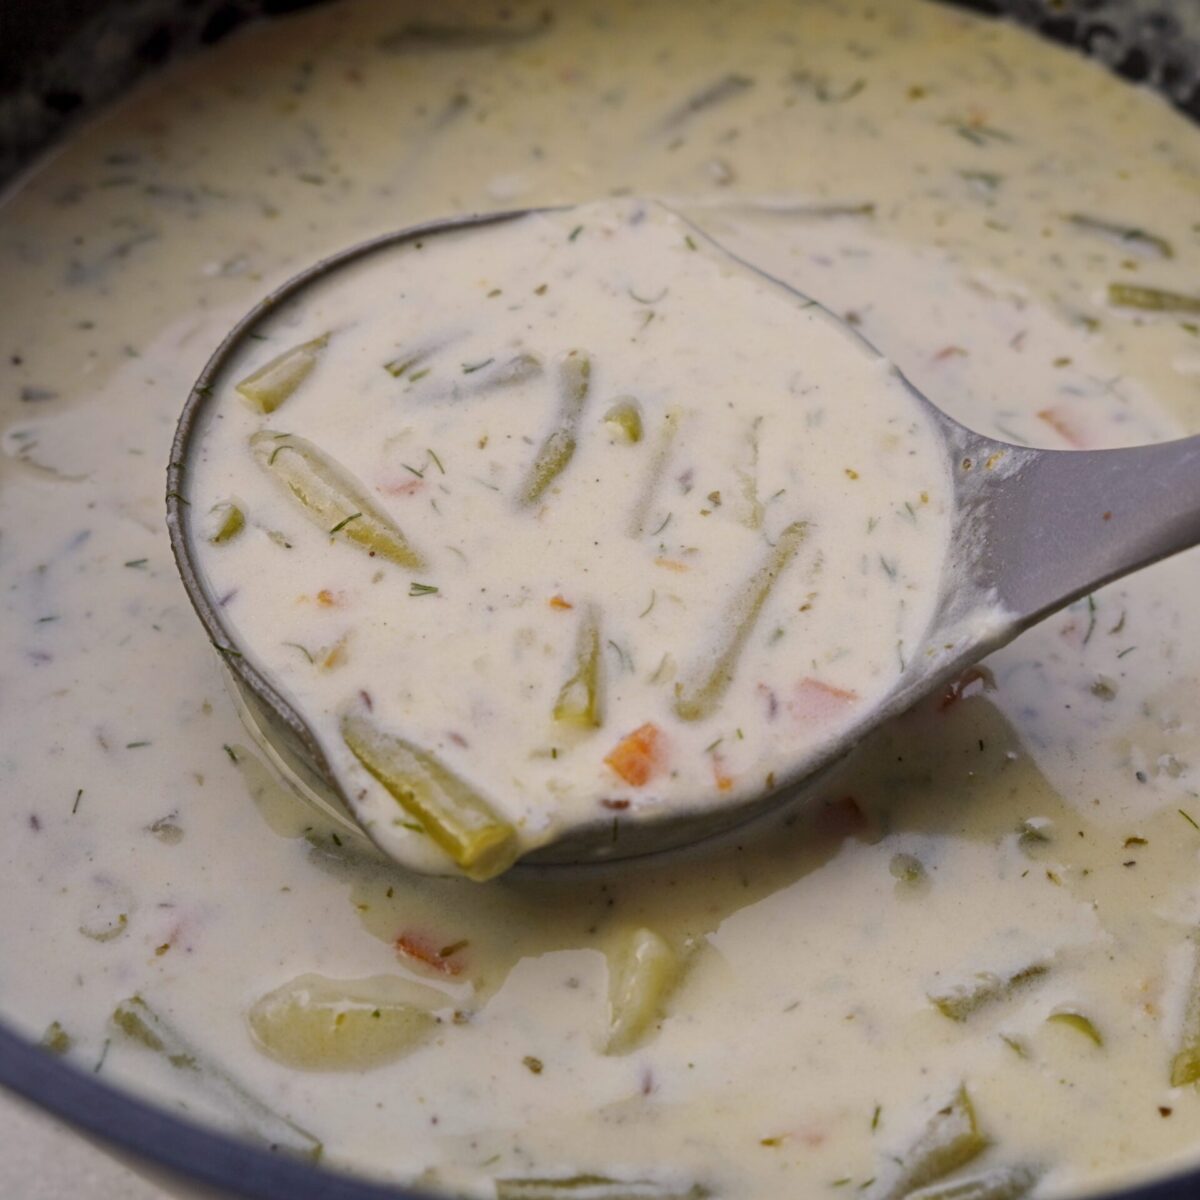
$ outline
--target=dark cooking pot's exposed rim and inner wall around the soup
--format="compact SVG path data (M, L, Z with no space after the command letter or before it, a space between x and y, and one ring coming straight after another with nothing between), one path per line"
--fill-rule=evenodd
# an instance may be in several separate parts
M0 184L80 115L239 25L319 0L0 0ZM1200 122L1200 0L956 0L1076 47ZM182 401L182 397L180 397ZM397 1200L416 1194L272 1156L119 1091L0 1020L0 1085L180 1195ZM1094 1200L1195 1200L1200 1168Z

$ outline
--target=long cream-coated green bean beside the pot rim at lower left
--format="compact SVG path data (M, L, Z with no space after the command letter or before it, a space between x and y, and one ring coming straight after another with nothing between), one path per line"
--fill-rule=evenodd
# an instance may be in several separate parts
M161 1055L206 1092L238 1124L271 1150L320 1158L322 1145L311 1133L281 1117L222 1068L205 1060L191 1042L140 996L116 1006L113 1025L132 1042Z

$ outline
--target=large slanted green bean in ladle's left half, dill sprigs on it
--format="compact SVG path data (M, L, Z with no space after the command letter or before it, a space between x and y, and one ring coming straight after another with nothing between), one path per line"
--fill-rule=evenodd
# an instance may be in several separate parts
M260 430L250 449L262 466L325 533L408 570L427 565L400 527L350 473L305 438Z

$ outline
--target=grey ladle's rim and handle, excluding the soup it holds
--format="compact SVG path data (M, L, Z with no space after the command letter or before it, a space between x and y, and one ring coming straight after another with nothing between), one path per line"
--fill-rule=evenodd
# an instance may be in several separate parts
M294 788L355 828L353 806L319 739L289 698L238 648L235 634L204 584L186 515L187 468L197 434L227 364L262 322L310 284L403 242L485 229L546 211L552 210L523 209L413 226L307 268L230 330L196 380L175 431L167 472L167 526L188 598L229 670L256 739ZM745 265L802 295L755 264ZM856 336L878 354L857 331ZM616 820L606 814L565 829L521 862L574 865L678 850L796 804L871 731L965 667L1094 588L1200 542L1200 436L1122 450L1034 450L959 425L899 371L896 376L931 418L953 480L952 541L924 638L937 653L913 655L881 703L790 774L779 773L774 790L695 811L630 810Z

